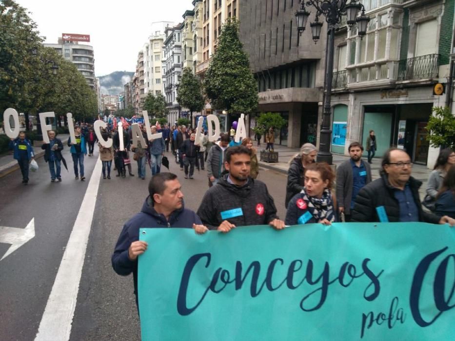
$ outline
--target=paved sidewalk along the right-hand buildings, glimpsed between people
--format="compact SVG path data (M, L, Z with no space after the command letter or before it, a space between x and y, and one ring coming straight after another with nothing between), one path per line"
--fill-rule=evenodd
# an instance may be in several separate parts
M262 168L267 168L270 170L276 170L282 173L288 172L289 168L289 160L292 158L293 155L298 153L300 151L300 148L288 148L280 145L275 145L274 146L275 152L278 152L278 162L276 163L267 163L263 161L259 161L259 166ZM256 146L255 146L256 148ZM259 160L260 158L260 151L261 149L257 150L257 159ZM345 155L340 155L340 154L333 154L333 163L334 165L338 166L342 162L349 160L349 156ZM366 160L366 158L364 158ZM373 180L376 180L379 178L379 169L381 168L381 158L374 158L373 159L373 164L371 165L371 172L372 172L372 178ZM427 188L427 181L428 177L430 176L431 170L427 168L425 165L416 165L414 164L413 170L412 170L412 176L420 180L423 184L419 189L420 193L420 200L423 200L425 196L425 189Z

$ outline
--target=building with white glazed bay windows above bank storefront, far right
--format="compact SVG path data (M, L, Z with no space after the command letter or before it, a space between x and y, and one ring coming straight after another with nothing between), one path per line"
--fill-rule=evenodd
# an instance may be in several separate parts
M454 2L362 0L367 35L342 25L336 36L332 152L348 154L351 142L365 144L374 130L376 156L397 146L433 167L439 149L430 147L425 127L432 108L453 98Z

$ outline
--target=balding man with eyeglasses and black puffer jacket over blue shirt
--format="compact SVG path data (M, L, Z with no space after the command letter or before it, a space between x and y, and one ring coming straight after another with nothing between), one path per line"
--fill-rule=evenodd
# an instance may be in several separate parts
M455 225L455 219L423 211L418 189L422 182L411 176L409 155L397 148L384 153L381 177L358 192L352 222L426 222Z

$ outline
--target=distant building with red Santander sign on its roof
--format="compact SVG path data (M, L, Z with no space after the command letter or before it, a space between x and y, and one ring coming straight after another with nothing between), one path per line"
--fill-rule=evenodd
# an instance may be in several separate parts
M93 46L81 44L78 39L81 39L81 41L90 41L90 36L62 34L62 37L58 38L57 44L43 45L52 47L60 56L76 65L78 71L87 81L87 84L95 91L95 57Z

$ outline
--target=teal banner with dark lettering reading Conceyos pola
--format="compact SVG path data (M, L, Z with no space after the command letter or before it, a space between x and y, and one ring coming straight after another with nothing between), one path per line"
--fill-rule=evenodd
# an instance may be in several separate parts
M143 228L142 340L455 340L455 228Z

